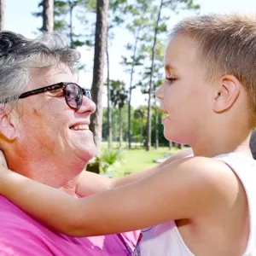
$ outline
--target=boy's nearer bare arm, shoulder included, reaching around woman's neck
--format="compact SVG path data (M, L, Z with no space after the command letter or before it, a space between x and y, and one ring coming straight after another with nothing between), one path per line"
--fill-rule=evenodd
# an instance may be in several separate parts
M0 192L54 230L70 236L98 236L168 220L205 218L234 200L230 195L236 195L237 181L230 173L229 167L218 160L187 158L138 182L76 199L3 170Z

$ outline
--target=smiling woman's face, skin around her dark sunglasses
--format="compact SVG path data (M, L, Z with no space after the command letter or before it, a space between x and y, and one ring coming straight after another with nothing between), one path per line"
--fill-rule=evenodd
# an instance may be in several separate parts
M32 73L27 90L50 84L74 82L76 78L64 64ZM89 130L90 114L96 110L94 102L83 97L79 110L67 106L62 90L44 92L19 100L19 143L32 148L34 154L53 160L81 160L88 162L96 153L92 132ZM31 151L31 150L28 150ZM30 152L30 154L32 154Z

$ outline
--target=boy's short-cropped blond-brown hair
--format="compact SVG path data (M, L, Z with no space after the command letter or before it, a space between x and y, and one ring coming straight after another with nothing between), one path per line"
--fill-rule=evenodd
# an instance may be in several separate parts
M172 30L172 37L186 35L199 44L199 59L206 79L233 74L247 90L256 125L256 15L203 15L189 17Z

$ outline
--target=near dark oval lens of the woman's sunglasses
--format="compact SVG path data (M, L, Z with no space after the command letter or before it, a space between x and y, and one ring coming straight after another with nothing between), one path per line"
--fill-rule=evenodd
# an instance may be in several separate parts
M83 95L77 84L67 84L65 96L70 108L79 109L81 107Z

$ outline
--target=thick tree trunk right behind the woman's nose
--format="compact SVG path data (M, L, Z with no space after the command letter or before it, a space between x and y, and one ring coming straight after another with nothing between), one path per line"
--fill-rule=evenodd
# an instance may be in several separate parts
M100 151L102 143L102 92L104 56L106 53L108 29L108 0L96 2L96 33L95 51L92 81L92 96L96 103L96 112L91 115L90 130L94 134L97 151Z

